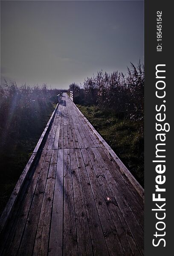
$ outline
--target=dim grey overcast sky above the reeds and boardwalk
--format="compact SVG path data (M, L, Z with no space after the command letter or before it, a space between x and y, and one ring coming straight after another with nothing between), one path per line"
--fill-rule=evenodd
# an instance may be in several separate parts
M143 1L0 1L1 84L68 88L144 61Z

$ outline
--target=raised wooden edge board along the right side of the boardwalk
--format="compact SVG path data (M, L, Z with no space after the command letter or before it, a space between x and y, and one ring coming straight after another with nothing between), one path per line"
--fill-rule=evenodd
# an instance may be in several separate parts
M74 104L75 105L75 104ZM131 174L131 172L128 170L128 168L124 165L124 163L122 163L122 161L119 159L119 157L116 155L116 153L112 150L112 148L107 144L107 142L102 138L102 136L96 131L96 129L93 127L93 125L91 125L91 123L87 120L87 118L84 116L84 114L79 110L79 108L75 105L75 107L77 108L78 112L81 114L81 116L83 116L84 120L87 122L87 124L90 126L90 128L92 129L93 133L96 134L96 136L98 137L99 141L101 143L103 143L104 147L107 148L108 153L110 154L111 157L113 157L113 159L115 160L115 162L119 165L120 167L120 171L122 172L122 174L124 174L126 177L128 177L128 179L130 180L130 182L132 183L132 185L135 187L136 191L139 193L139 195L142 197L142 199L144 200L144 189L142 188L142 186L139 184L139 182L136 180L135 177L133 177L133 175Z

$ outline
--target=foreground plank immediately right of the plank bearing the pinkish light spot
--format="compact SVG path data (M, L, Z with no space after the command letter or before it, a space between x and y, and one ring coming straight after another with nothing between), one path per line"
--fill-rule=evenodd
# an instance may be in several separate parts
M143 255L144 233L143 233L142 227L140 226L130 205L128 204L125 197L123 196L122 191L120 190L118 184L115 182L115 180L113 179L113 176L111 175L107 166L105 165L104 160L102 159L102 157L99 156L99 153L97 153L98 150L99 148L97 149L92 148L93 153L95 154L96 158L99 160L99 164L104 173L104 177L107 179L109 183L110 189L113 192L114 198L119 206L119 209L122 212L122 215L124 216L129 229L131 230L132 236L136 241L139 251Z

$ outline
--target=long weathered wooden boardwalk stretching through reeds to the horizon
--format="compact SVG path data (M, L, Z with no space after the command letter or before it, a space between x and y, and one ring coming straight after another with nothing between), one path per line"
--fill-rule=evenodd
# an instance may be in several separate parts
M3 214L0 255L143 255L143 189L66 93L41 147Z

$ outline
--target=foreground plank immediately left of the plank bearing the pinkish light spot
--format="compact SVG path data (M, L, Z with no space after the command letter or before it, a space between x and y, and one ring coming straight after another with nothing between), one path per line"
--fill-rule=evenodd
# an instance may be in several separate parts
M104 200L98 180L93 170L93 166L90 162L90 158L87 154L87 150L82 148L81 154L83 156L84 164L87 170L87 175L90 180L90 186L93 191L94 201L96 203L96 208L99 213L99 218L102 224L102 228L103 228L103 232L104 232L104 236L106 239L110 256L125 255L119 240L117 230L113 224L113 220L107 208L106 201Z

